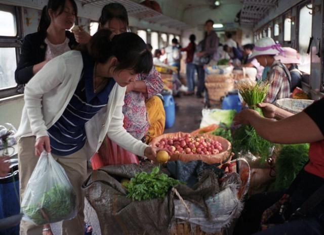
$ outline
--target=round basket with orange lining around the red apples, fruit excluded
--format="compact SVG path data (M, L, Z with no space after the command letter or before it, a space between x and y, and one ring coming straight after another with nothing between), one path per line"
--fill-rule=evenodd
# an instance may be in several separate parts
M156 146L157 143L163 138L184 137L186 134L188 134L188 133L176 132L176 133L163 134L156 138L153 138L150 145ZM225 139L221 136L209 135L209 134L198 134L197 136L204 136L204 137L208 137L208 138L217 140L222 145L223 151L218 154L211 154L211 155L206 155L206 154L190 154L190 155L189 154L172 154L170 157L170 161L180 160L183 162L189 162L189 161L193 161L193 160L201 160L208 164L222 164L222 163L230 160L232 146L231 146L231 143L228 142L227 139Z

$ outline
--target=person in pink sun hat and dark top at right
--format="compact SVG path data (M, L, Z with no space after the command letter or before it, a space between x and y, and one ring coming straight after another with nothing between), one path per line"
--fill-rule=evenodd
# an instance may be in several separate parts
M302 73L298 70L297 64L300 64L300 56L299 53L292 48L282 48L284 53L280 53L275 56L276 60L279 60L282 64L284 64L290 72L291 76L291 91L293 91L297 86L300 86L302 80Z

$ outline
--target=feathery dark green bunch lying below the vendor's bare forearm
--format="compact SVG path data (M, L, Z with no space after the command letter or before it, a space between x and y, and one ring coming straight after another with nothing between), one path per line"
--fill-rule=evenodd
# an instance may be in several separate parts
M275 160L275 189L287 189L308 161L308 144L284 145Z

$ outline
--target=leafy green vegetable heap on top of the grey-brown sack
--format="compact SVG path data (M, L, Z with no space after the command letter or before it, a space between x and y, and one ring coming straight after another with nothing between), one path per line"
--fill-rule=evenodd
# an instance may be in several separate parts
M156 166L151 173L137 173L129 183L125 184L128 190L127 197L138 201L165 198L170 188L179 184L180 181L158 172L159 167Z

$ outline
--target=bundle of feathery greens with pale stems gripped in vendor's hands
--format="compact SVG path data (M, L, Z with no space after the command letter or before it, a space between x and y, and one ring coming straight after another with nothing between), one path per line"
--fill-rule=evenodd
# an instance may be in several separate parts
M244 82L238 85L238 90L250 109L254 109L262 115L262 110L257 104L263 102L268 92L269 84L264 82ZM272 143L262 138L252 126L242 125L233 132L233 151L246 154L251 152L266 160Z

